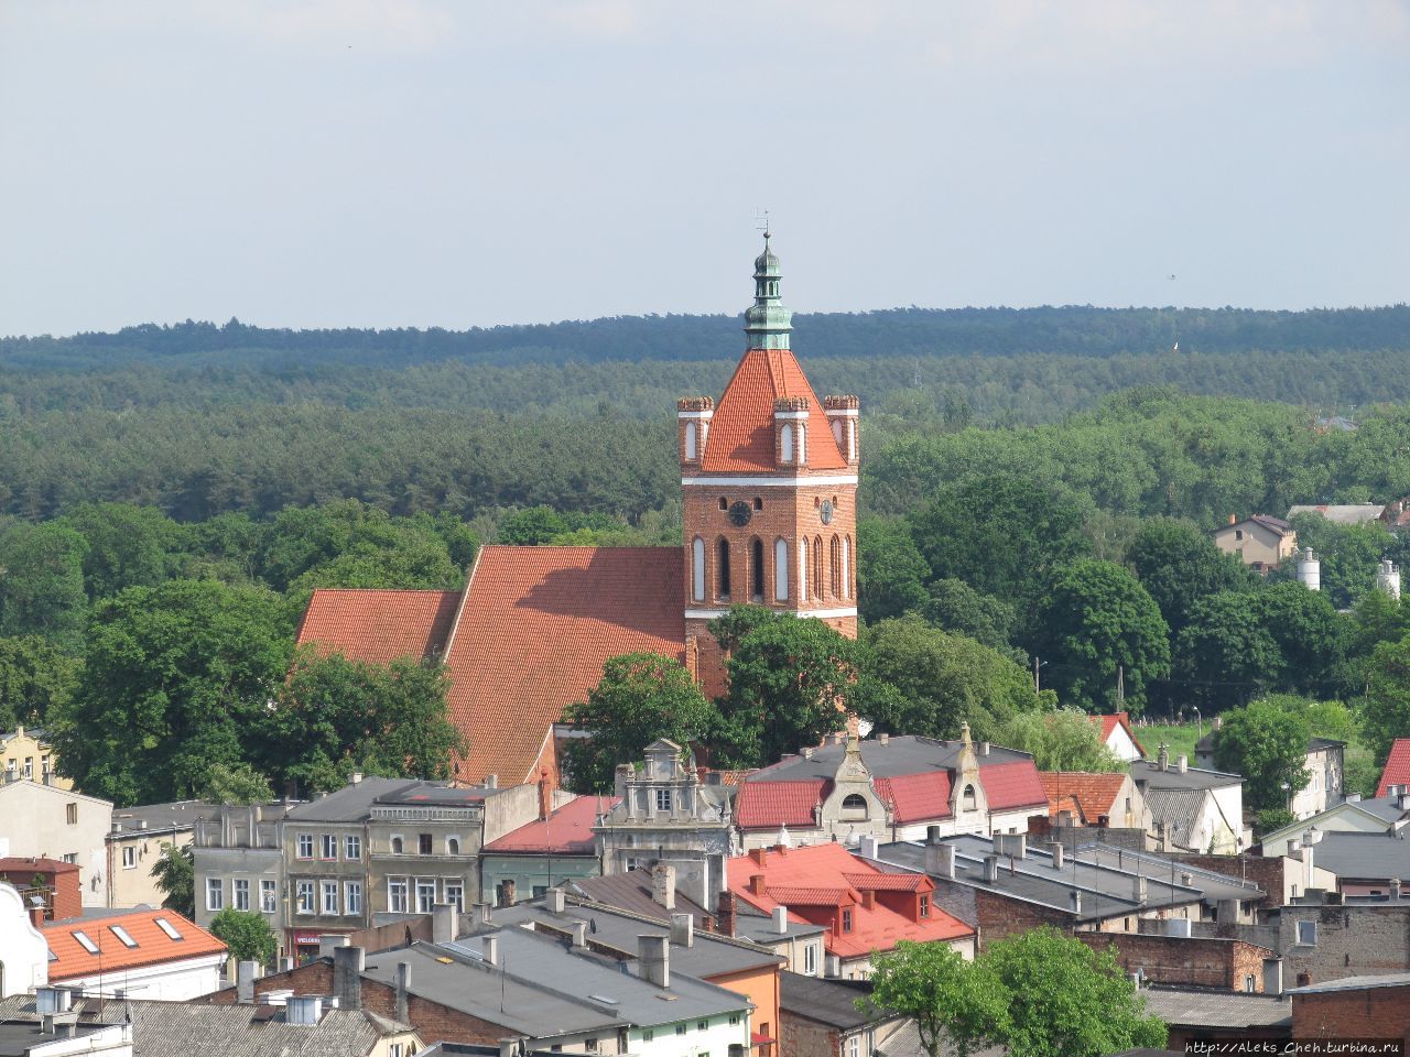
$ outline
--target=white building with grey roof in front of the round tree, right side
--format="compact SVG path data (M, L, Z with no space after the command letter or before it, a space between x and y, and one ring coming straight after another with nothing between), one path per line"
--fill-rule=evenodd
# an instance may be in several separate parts
M1214 851L1232 855L1252 843L1244 830L1244 778L1170 762L1160 746L1155 760L1131 764L1131 778L1151 809L1166 851Z

